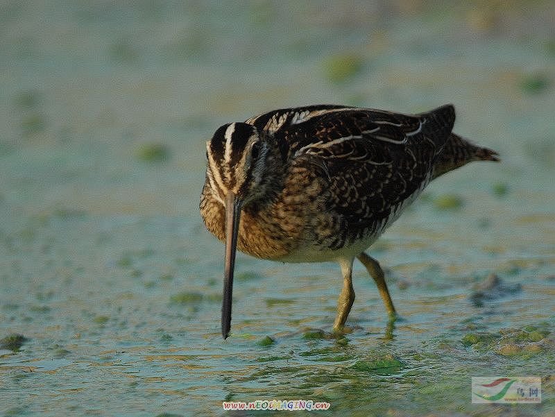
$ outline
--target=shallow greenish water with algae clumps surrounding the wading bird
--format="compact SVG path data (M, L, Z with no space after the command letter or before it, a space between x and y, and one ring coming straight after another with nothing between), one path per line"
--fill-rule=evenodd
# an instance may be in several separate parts
M0 350L0 411L212 416L276 398L553 415L553 5L411 4L1 6L0 339L26 341ZM370 250L400 320L357 264L353 331L330 338L338 266L238 255L222 341L204 142L321 102L453 102L456 132L503 162L438 179ZM504 287L481 290L490 273ZM490 375L542 377L543 403L472 405L470 377Z

